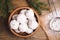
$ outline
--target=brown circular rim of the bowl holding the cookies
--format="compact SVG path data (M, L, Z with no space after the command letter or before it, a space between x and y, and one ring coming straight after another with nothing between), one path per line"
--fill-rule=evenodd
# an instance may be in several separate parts
M22 38L27 38L27 37L30 37L30 36L32 36L33 34L35 34L35 33L38 31L38 28L39 28L39 26L40 26L39 15L37 14L37 12L36 12L33 8L30 8L30 7L19 7L19 8L16 8L16 9L9 15L8 25L10 24L10 20L11 20L12 15L13 15L15 12L17 12L18 10L24 9L24 8L26 8L26 9L32 9L32 10L34 11L34 13L35 13L35 15L36 15L36 17L37 17L37 19L38 19L38 27L36 28L36 30L35 30L33 33L29 34L29 35L22 36L22 35L19 35L19 34L16 33L16 32L14 32L12 29L10 29L10 28L9 28L9 29L10 29L10 31L11 31L14 35L16 35L16 36L18 36L18 37L22 37ZM9 27L10 27L10 25L9 25Z

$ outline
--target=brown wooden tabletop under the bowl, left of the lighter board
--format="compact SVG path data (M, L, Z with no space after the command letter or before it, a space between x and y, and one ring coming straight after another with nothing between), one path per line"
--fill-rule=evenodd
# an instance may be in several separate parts
M28 6L28 4L26 3L26 0L12 0L11 2L14 6L14 9L18 7ZM7 21L1 19L0 20L0 40L47 40L47 37L44 31L41 28L39 28L39 31L33 36L26 39L19 38L10 32Z

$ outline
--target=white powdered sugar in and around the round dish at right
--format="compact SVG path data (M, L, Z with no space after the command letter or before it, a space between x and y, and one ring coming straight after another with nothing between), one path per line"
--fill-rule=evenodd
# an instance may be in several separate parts
M60 10L56 9L56 11L51 12L48 14L49 19L49 27L51 30L60 31Z

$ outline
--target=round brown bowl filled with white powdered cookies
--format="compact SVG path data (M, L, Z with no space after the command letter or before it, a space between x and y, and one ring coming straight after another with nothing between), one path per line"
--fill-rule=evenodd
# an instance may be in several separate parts
M39 15L30 7L17 8L10 14L8 24L13 34L27 38L38 31Z

